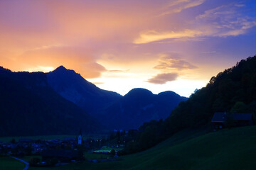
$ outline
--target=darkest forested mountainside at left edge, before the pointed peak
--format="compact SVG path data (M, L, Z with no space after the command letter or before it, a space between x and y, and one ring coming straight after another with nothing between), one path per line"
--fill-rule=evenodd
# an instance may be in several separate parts
M11 72L0 67L0 135L76 134L99 123L48 86L43 72Z

